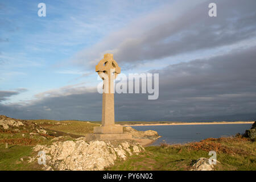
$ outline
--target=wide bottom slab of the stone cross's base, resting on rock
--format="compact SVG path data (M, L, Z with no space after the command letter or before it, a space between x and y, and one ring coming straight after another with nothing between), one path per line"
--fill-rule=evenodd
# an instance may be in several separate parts
M122 133L122 134L86 134L85 139L87 141L92 141L92 140L130 140L132 139L131 134L127 133Z

